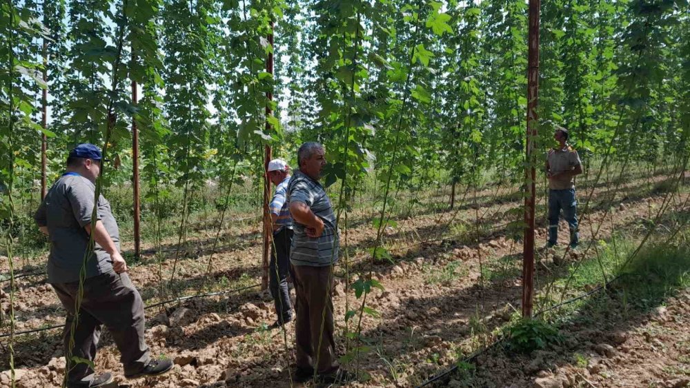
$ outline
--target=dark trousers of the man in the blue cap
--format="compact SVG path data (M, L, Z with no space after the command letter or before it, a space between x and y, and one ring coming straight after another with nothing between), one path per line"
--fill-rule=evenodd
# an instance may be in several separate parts
M79 282L54 283L52 287L67 309L63 331L63 346L67 358ZM108 272L84 281L79 322L73 333L72 357L93 362L101 336L101 325L108 328L115 340L125 374L135 374L144 368L149 360L148 347L144 343L144 303L128 274ZM67 360L68 387L88 387L94 378L93 368L78 360Z

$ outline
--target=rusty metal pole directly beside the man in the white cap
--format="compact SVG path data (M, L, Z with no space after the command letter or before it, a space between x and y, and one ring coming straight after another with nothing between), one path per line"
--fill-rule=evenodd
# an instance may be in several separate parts
M270 21L270 34L268 34L268 43L273 46L273 21ZM266 72L273 74L273 52L268 53L266 59ZM270 107L270 101L273 101L273 93L266 92L266 98L269 104L266 104L266 132L270 133L271 127L268 123L268 117L273 115L273 110ZM264 256L263 269L261 278L262 289L268 289L268 257L270 255L270 245L273 238L273 222L270 219L270 211L268 210L268 201L270 200L270 180L268 179L268 162L271 159L270 145L264 147Z

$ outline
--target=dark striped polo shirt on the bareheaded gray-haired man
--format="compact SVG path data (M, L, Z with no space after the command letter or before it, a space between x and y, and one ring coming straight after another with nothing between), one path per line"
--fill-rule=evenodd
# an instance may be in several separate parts
M326 267L338 261L339 236L335 227L335 214L324 187L312 178L295 170L288 184L288 203L302 202L322 221L324 232L319 238L306 235L306 225L294 221L295 236L290 249L290 263Z

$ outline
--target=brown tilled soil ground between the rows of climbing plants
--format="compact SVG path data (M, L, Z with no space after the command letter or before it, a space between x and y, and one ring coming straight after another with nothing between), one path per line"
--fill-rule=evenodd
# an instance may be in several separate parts
M581 219L582 245L607 239L613 233L635 232L662 206L664 177L627 181L615 187L601 185L595 198L610 203L591 207ZM649 188L652 190L648 190ZM511 209L519 205L513 190L486 187L470 192L454 210L436 212L426 207L411 210L388 227L384 237L393 254L390 261L373 262L366 254L375 229L371 214L355 212L348 221L346 241L351 265L341 259L336 268L334 303L339 354L346 349L346 311L361 300L346 285L358 274L373 276L385 290L375 289L367 305L380 316L362 318L362 343L366 346L357 363L346 367L360 373L352 387L412 387L425 382L472 351L489 345L495 329L518 314L522 293L520 271L522 245L509 234ZM580 201L588 194L578 193ZM447 199L447 197L445 197ZM688 212L688 194L674 197L671 212ZM433 198L430 201L444 201ZM538 211L543 215L542 207ZM582 206L580 208L582 212ZM540 217L543 218L543 217ZM478 221L477 221L478 220ZM537 231L538 286L558 268L582 260L584 252L564 254L566 263L555 263L563 252L542 249L545 221ZM602 225L597 232L599 225ZM567 226L560 225L560 245L566 245ZM176 252L146 254L130 267L130 276L147 305L171 296L247 287L259 282L261 238L259 225L250 221L231 224L221 234L210 262L209 249L215 229L200 229L192 243ZM595 236L593 237L593 233ZM345 236L343 236L345 238ZM175 247L176 238L164 241ZM343 244L344 245L344 244ZM151 244L146 249L153 249ZM126 242L123 249L132 249ZM171 249L174 251L174 249ZM583 249L584 250L584 249ZM579 255L579 256L578 256ZM161 260L162 259L162 260ZM46 257L36 258L17 272L45 267ZM6 265L6 260L1 261ZM172 267L175 276L170 282ZM7 272L0 267L1 273ZM493 274L488 276L488 274ZM161 278L164 287L161 287ZM541 280L544 279L542 282ZM1 283L1 307L8 311L8 282ZM161 289L164 293L161 294ZM573 289L568 296L589 290ZM17 280L15 295L17 331L63 323L64 311L44 276ZM607 296L594 296L597 300ZM609 307L620 300L609 300ZM606 309L605 309L606 310ZM561 327L564 343L528 356L506 354L499 347L476 358L472 367L451 374L442 385L451 387L685 387L690 382L690 292L664 298L654 309L623 317L611 307L597 314L582 312L587 319L569 320ZM275 320L273 302L258 288L193 298L181 303L147 309L146 340L154 356L175 360L171 373L158 379L125 380L119 352L107 331L101 337L97 370L116 376L114 387L289 387L293 363L294 325L285 330L268 329ZM591 321L595 317L595 322ZM3 334L7 329L3 329ZM351 344L353 345L353 344ZM2 338L0 369L8 369L8 338ZM18 387L61 385L64 359L60 329L17 337L14 343ZM464 367L463 367L464 368ZM9 371L0 373L0 387L8 387Z

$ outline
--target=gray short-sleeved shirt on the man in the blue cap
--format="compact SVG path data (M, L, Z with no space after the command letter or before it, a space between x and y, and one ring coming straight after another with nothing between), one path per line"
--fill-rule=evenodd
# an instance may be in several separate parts
M91 223L95 190L95 185L83 176L63 175L50 187L34 215L34 220L39 226L48 227L48 283L79 281L79 271L89 241L84 226ZM119 250L117 222L112 216L110 203L103 195L99 196L97 214L97 219L106 227ZM86 278L110 271L110 254L95 243L95 248L86 263Z

